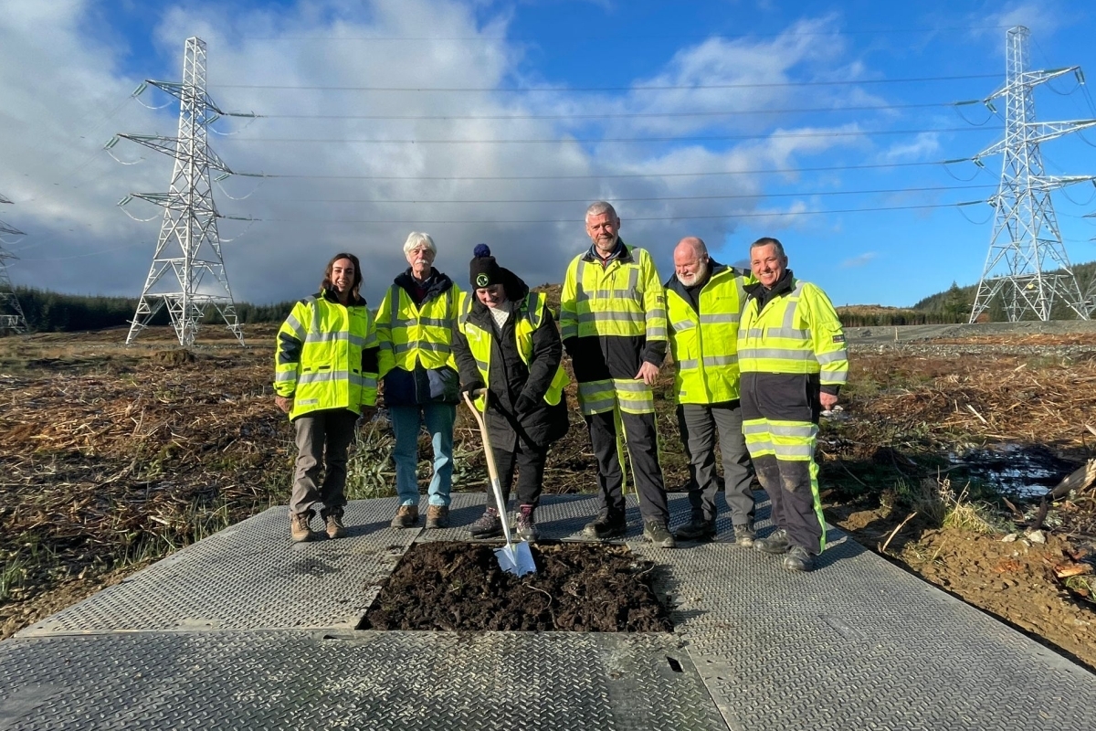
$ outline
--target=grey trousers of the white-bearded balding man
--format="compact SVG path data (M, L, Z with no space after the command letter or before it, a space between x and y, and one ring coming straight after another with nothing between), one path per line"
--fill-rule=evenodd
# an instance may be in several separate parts
M727 504L735 526L753 526L754 499L750 489L753 468L746 441L742 435L742 408L739 401L723 403L682 403L677 425L688 455L688 501L694 518L715 521L719 512L716 493L716 432L723 459Z

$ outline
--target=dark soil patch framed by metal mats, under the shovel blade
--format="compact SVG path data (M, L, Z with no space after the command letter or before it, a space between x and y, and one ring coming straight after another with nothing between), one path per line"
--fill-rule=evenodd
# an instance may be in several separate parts
M358 629L669 632L651 590L659 568L624 546L532 546L536 573L499 568L492 546L416 544Z

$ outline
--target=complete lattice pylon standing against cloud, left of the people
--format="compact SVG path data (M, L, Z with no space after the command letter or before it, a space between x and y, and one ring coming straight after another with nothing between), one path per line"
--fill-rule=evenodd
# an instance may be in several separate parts
M221 116L255 115L224 112L206 93L206 45L197 37L186 39L183 81L148 80L134 95L139 95L149 85L179 99L179 137L117 135L106 145L110 149L119 138L128 139L175 158L170 192L133 193L118 203L124 206L133 198L140 198L164 208L152 265L126 344L133 343L167 305L179 344L190 346L206 306L213 305L243 345L243 332L237 321L217 233L217 219L226 217L217 213L209 182L210 169L221 171L225 178L233 173L209 148L208 126Z

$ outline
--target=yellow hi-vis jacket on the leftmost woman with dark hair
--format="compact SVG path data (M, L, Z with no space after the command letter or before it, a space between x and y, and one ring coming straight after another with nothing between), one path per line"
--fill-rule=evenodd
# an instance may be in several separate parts
M322 290L294 305L274 353L274 391L293 397L289 419L377 402L377 329L365 300Z

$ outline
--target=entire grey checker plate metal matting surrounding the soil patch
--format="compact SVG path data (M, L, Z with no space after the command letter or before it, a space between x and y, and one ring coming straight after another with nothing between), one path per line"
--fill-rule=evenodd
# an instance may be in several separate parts
M284 507L224 530L0 643L0 729L1092 727L1096 676L841 532L795 574L733 545L726 515L715 542L644 545L633 496L625 541L660 564L672 636L347 631L412 542L467 539L483 504L454 494L454 527L436 532L389 528L395 499L351 503L339 541L290 544ZM596 511L549 496L538 528L581 540ZM671 513L687 519L685 495ZM544 711L507 690L521 677Z

